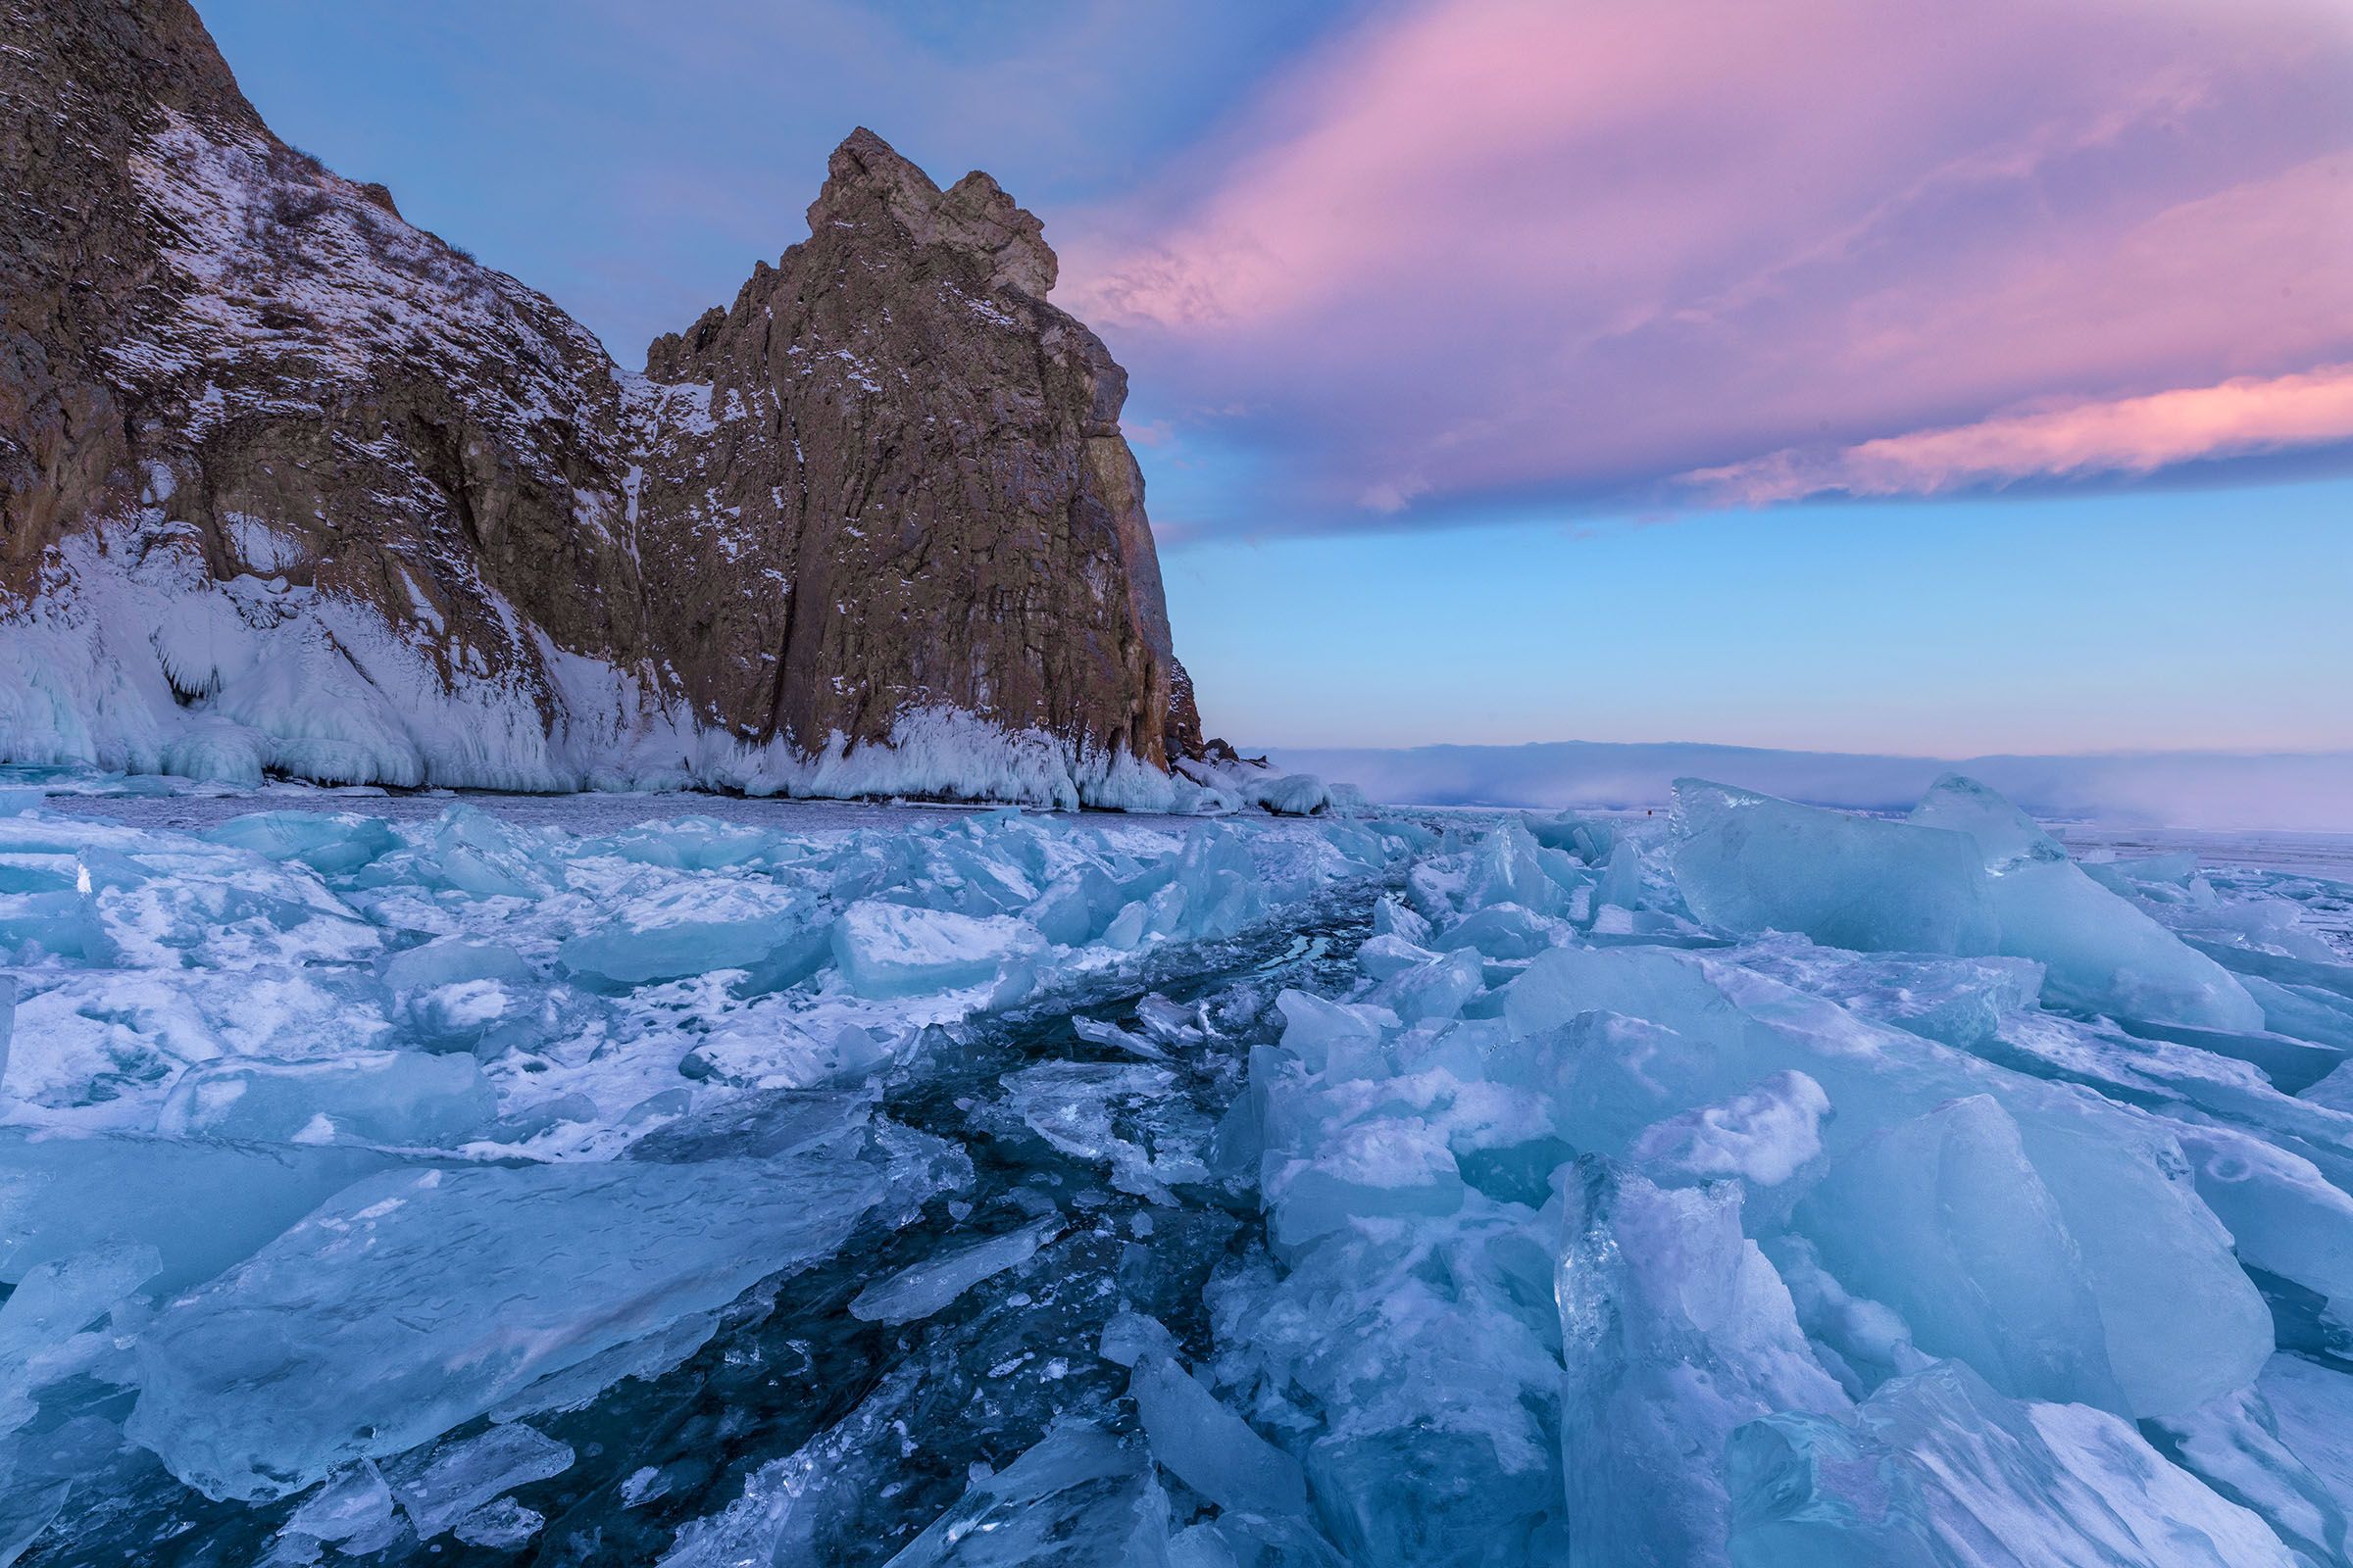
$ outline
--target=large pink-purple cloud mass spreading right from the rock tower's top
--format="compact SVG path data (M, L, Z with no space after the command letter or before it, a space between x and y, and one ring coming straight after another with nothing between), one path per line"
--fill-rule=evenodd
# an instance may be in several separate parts
M1056 219L1061 299L1306 524L1640 494L2353 362L2346 80L2320 0L1426 0Z

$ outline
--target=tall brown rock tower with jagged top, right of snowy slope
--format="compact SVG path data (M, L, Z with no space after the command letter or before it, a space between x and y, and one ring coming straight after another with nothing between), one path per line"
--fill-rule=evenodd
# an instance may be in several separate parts
M656 404L638 489L687 520L642 559L699 715L807 743L948 703L1160 766L1195 741L1127 376L1052 284L993 179L939 190L861 129L809 240L654 341L654 383L711 388Z

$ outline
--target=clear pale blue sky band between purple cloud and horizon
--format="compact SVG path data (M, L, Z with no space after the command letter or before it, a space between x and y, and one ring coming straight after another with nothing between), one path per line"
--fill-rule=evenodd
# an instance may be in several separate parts
M1273 536L1162 555L1252 745L2353 745L2353 487ZM1224 635L1202 635L1217 628Z

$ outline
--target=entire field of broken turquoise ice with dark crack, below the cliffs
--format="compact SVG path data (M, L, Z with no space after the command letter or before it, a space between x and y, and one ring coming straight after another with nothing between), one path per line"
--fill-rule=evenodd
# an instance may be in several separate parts
M2353 886L0 797L0 1561L2346 1563Z

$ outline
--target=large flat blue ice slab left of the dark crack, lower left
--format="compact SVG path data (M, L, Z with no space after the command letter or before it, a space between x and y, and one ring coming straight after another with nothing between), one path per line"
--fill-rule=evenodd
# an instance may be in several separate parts
M129 1434L212 1497L282 1497L638 1371L628 1347L833 1253L885 1187L854 1159L384 1173L158 1314Z

